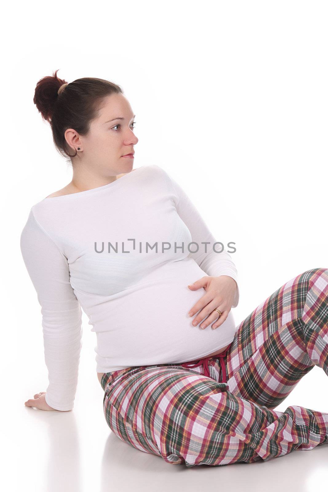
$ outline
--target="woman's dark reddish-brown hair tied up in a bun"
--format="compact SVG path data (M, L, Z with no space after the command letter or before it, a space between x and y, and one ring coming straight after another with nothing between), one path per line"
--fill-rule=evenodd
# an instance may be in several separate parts
M33 102L43 120L50 123L55 148L70 163L77 151L74 155L69 154L70 147L64 136L67 128L74 128L80 135L88 135L90 123L97 118L105 97L123 94L123 90L113 82L94 77L76 79L67 84L57 77L57 72L38 81ZM63 84L67 85L58 94Z

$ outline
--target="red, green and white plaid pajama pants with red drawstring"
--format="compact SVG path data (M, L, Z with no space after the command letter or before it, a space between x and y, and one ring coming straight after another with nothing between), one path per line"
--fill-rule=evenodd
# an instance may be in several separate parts
M187 467L268 461L327 443L328 413L273 408L315 365L328 375L328 269L276 290L220 356L105 373L109 428L134 448Z

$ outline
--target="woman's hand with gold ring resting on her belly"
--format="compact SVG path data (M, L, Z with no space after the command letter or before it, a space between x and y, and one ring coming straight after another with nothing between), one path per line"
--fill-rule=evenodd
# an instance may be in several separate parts
M193 326L197 326L204 318L207 319L202 323L202 329L206 328L215 320L217 321L212 325L213 330L222 325L227 319L234 302L237 289L236 280L227 275L202 277L194 284L188 285L188 287L191 290L198 290L204 287L206 290L206 294L189 311L189 316L193 316L197 311L202 309L192 322ZM215 311L216 308L221 311L221 315ZM219 319L217 319L218 317Z

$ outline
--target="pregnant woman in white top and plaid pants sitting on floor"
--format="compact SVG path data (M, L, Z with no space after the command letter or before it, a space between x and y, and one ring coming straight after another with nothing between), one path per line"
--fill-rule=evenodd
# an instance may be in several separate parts
M274 408L315 365L328 374L328 269L287 281L236 327L231 256L164 169L133 169L121 88L56 71L34 103L73 177L32 206L21 234L49 371L47 391L25 404L73 408L82 307L106 422L129 445L191 467L327 443L328 413Z

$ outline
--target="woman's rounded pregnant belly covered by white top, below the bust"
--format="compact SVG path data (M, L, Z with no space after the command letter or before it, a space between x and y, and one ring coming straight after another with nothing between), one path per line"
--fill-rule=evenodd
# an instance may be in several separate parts
M188 316L206 294L204 288L188 289L188 284L204 276L186 258L153 270L140 284L98 303L97 311L90 312L96 320L92 331L97 335L98 380L104 374L99 370L106 367L179 364L226 350L236 332L232 311L216 330L194 327L195 314Z

